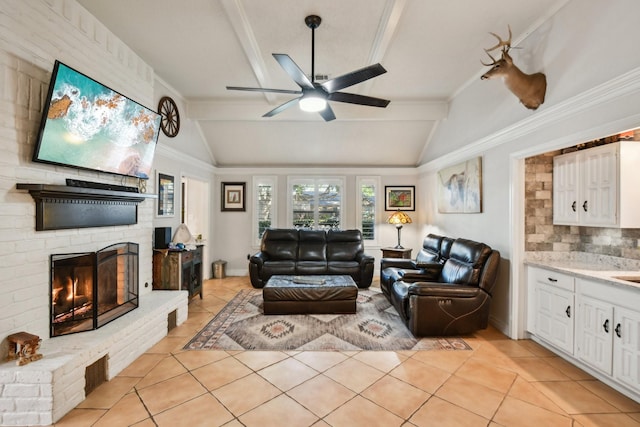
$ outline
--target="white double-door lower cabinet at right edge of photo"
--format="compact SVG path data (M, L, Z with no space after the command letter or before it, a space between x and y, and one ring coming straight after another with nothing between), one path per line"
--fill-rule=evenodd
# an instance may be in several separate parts
M576 357L640 390L638 290L576 279L576 300Z

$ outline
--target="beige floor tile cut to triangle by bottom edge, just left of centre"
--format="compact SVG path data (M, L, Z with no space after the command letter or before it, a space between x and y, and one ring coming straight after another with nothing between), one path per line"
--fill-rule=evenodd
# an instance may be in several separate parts
M318 417L284 394L239 418L247 427L307 427Z

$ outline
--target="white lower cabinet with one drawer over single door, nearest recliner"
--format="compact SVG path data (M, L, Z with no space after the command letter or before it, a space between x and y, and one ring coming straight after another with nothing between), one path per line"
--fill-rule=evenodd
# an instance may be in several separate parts
M573 354L574 278L543 268L528 269L530 332L549 344Z

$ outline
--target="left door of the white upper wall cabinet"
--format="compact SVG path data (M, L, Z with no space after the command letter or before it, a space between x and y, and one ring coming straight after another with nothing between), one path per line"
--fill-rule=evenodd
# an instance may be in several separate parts
M578 156L563 154L553 159L553 223L578 223Z

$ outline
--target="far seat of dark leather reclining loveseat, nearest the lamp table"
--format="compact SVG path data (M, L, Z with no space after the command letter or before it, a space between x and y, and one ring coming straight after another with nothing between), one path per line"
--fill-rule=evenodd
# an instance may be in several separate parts
M437 280L440 266L449 258L454 239L428 234L416 259L382 258L380 260L380 289L389 297L391 287L398 280L405 282ZM434 265L435 264L435 265Z

